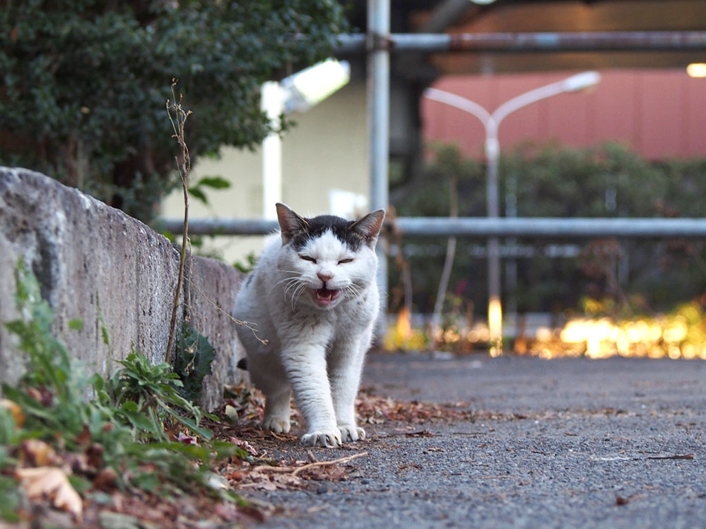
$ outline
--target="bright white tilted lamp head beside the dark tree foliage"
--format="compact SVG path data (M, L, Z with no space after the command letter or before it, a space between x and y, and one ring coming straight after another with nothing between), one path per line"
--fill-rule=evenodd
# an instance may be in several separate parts
M347 61L326 59L282 79L285 114L304 112L322 102L351 79Z

